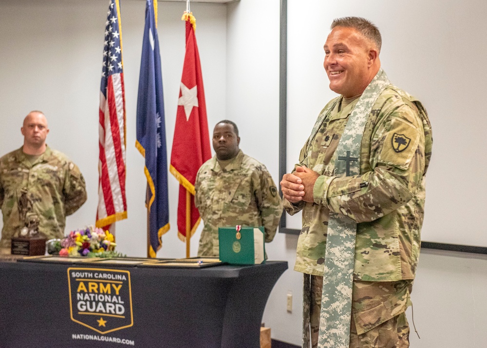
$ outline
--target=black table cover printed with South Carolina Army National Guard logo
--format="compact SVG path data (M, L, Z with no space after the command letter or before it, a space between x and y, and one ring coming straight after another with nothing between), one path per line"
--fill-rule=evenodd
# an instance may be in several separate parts
M0 262L0 348L259 348L286 269Z

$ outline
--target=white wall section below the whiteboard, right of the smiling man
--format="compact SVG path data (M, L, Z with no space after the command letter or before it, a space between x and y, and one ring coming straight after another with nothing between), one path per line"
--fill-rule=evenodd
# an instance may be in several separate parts
M421 250L407 311L413 348L484 348L487 255Z

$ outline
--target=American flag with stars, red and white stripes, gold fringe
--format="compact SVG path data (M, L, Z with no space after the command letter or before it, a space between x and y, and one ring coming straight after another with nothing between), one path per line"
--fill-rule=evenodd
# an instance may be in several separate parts
M125 90L120 5L111 0L105 28L100 86L100 157L96 226L127 218L125 199Z

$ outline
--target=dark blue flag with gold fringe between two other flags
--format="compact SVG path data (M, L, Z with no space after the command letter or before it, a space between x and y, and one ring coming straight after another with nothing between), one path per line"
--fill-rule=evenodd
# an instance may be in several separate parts
M146 158L144 173L147 177L146 205L149 210L150 257L156 256L156 251L162 246L161 236L169 230L166 125L156 14L157 0L147 0L135 142L135 147Z

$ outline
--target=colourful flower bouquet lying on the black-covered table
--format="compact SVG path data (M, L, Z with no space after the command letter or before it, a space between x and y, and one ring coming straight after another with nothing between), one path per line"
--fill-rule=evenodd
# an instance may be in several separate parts
M124 257L115 251L115 237L109 231L88 226L71 231L63 239L54 241L48 253L59 256Z

